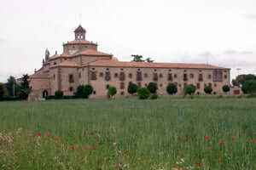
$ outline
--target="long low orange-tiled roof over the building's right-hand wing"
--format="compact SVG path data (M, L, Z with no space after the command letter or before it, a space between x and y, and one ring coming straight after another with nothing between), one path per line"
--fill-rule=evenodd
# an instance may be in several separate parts
M137 67L137 68L179 68L179 69L227 69L215 65L186 64L186 63L146 63L146 62L125 62L112 59L101 59L88 64L89 66L109 67Z

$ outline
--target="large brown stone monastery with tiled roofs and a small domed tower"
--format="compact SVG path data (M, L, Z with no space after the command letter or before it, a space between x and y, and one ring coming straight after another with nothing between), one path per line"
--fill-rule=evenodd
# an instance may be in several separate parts
M49 56L45 51L43 66L30 77L31 96L44 98L61 90L73 95L81 84L94 88L91 98L105 98L108 87L117 88L117 97L129 96L129 82L145 87L157 82L158 94L165 95L169 83L177 84L177 94L183 94L187 84L194 84L196 94L205 94L204 87L212 86L213 94L223 94L222 87L230 85L230 69L204 64L122 62L97 50L95 42L85 40L86 31L79 26L75 40L63 44L63 53Z

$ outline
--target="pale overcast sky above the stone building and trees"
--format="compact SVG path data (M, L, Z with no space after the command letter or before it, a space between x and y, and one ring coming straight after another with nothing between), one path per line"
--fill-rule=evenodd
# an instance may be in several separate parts
M0 82L62 53L81 24L119 60L209 63L256 73L255 0L0 0Z

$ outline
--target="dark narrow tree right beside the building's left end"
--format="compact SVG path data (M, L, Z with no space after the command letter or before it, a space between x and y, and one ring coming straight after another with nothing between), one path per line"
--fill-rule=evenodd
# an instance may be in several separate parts
M20 99L27 99L28 95L32 91L32 88L29 86L28 79L29 79L29 77L27 74L23 75L23 77L21 77L20 92L19 92Z

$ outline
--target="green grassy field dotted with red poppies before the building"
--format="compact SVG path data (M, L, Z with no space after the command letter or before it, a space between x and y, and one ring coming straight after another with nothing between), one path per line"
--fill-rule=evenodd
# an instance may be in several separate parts
M256 169L256 99L0 102L0 132L0 169Z

